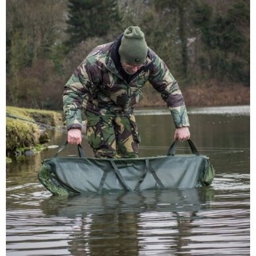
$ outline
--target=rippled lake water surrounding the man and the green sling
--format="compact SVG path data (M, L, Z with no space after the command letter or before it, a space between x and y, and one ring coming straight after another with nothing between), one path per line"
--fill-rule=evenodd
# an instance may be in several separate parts
M7 164L7 255L249 255L249 106L189 108L189 120L191 140L216 170L209 187L56 197L37 174L57 148ZM139 110L137 123L140 156L166 154L171 115ZM51 133L50 144L65 136ZM187 152L179 143L177 153Z

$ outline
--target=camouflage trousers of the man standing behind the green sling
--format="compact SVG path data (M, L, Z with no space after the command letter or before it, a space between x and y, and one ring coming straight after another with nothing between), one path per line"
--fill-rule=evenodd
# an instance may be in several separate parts
M141 139L134 115L98 115L86 111L86 134L96 158L138 158Z

